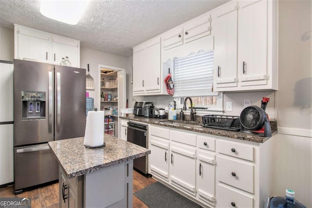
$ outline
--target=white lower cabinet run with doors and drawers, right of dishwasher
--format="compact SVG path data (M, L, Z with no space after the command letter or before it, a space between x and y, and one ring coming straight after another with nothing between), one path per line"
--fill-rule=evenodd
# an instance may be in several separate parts
M149 126L153 177L209 208L266 207L273 138L265 143Z

